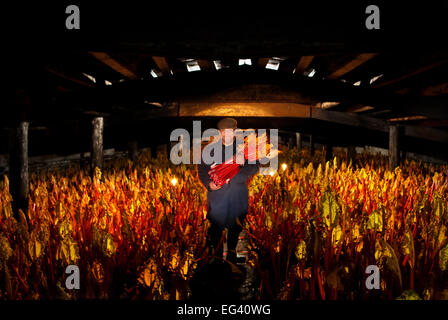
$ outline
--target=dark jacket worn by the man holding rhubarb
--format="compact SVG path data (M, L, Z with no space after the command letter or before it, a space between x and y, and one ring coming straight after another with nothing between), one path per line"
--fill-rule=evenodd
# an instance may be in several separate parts
M215 142L222 148L222 160L225 159L226 148L233 148L235 154L236 143L224 146L221 141ZM198 175L202 184L207 188L207 218L222 228L229 228L235 223L235 219L247 213L249 207L249 191L247 182L251 176L256 174L260 165L247 164L240 165L239 172L218 190L210 189L210 166L201 161L198 165Z

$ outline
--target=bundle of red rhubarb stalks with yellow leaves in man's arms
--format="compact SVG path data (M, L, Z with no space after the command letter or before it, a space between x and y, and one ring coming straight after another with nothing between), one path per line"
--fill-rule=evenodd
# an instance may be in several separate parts
M240 171L240 164L246 160L255 162L263 158L272 158L278 151L273 145L266 143L266 133L257 136L252 133L244 138L244 143L237 145L236 154L224 163L213 164L208 172L210 179L216 186L221 187L236 176ZM271 152L274 151L274 152Z

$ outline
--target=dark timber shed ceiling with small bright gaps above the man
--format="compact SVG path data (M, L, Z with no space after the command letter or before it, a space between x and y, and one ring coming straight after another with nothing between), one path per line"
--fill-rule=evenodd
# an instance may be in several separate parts
M362 1L218 9L79 4L80 30L65 29L66 5L5 9L7 94L0 125L30 121L31 154L82 151L95 115L106 119L106 145L163 140L161 131L191 123L164 115L168 104L236 90L241 101L332 102L325 111L418 127L421 134L409 138L407 148L447 156L448 141L425 139L448 132L446 1L380 4L380 30L365 28ZM241 66L240 59L251 65ZM279 63L277 70L266 68L271 62ZM200 70L189 72L187 64ZM266 92L249 95L260 86ZM241 121L340 145L387 143L384 132L331 119Z

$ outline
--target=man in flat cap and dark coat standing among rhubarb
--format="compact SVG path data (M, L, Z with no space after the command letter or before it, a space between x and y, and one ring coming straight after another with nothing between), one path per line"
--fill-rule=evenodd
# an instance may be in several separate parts
M222 163L228 160L226 155L236 154L235 129L237 121L233 118L225 118L218 122L221 138L213 142L221 148ZM226 130L227 129L227 130ZM228 130L231 129L231 130ZM231 137L226 134L232 133ZM239 172L223 186L217 186L210 179L208 172L211 165L203 162L198 165L198 175L202 184L207 188L207 218L211 222L209 229L209 245L216 248L221 240L224 229L227 229L227 260L236 263L236 246L238 236L242 230L241 224L249 207L248 180L258 172L259 164L248 164L247 161L240 165ZM221 246L222 248L222 246ZM222 256L220 250L218 256Z

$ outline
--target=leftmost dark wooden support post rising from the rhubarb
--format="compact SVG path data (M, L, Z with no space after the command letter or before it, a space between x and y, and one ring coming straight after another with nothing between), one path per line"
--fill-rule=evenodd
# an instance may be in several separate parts
M19 209L26 213L28 208L28 126L28 122L22 121L9 129L9 181L16 218Z

